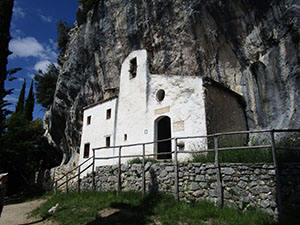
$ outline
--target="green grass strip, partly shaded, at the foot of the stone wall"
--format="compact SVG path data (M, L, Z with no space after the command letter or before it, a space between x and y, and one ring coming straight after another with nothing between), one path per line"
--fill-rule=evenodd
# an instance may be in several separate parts
M58 211L48 210L59 203ZM101 217L100 211L109 208L111 215ZM216 207L201 201L193 204L177 202L171 195L136 192L58 193L33 212L61 225L75 224L211 224L211 225L270 225L265 214L249 210L241 212L229 207Z

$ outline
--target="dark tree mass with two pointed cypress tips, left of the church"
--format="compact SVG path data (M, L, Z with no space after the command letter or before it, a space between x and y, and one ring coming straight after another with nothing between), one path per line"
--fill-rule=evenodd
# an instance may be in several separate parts
M32 120L33 82L24 105L25 81L16 111L6 119L2 136L0 170L9 173L9 191L15 193L32 186L36 171L44 168L48 142L43 137L42 120Z

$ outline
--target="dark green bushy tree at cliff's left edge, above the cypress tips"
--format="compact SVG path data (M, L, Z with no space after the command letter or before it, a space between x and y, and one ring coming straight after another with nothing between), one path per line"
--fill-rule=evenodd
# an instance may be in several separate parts
M39 73L34 76L36 100L37 103L41 104L44 108L48 108L53 102L57 77L58 69L54 64L48 66L46 73L39 71Z

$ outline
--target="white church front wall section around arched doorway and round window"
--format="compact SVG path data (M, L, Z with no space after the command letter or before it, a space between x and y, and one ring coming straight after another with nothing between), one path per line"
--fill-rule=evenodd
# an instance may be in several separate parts
M158 90L165 91L163 101L156 100ZM154 139L154 121L161 116L171 118L172 137L206 135L206 120L204 106L204 92L202 78L188 76L150 76L150 96L148 126L152 128ZM185 150L198 150L206 147L204 139L186 139ZM172 143L172 149L174 149ZM184 160L187 154L179 154L179 159Z

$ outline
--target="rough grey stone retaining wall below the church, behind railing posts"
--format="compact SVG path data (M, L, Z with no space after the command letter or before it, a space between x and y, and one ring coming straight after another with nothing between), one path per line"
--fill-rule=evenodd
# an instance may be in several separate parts
M277 218L277 182L273 164L226 163L220 165L224 204L241 210L261 209ZM122 165L122 190L142 191L142 165ZM172 163L146 163L146 191L174 193L175 173ZM180 163L179 197L187 202L218 202L217 168L213 163ZM283 207L295 207L300 199L300 165L282 166L281 193ZM118 167L96 169L96 190L117 190ZM297 181L297 182L296 182ZM81 189L92 189L92 175L81 181ZM295 197L297 195L298 197Z

